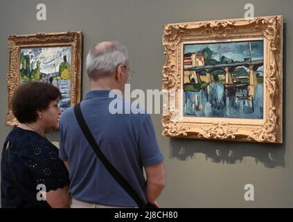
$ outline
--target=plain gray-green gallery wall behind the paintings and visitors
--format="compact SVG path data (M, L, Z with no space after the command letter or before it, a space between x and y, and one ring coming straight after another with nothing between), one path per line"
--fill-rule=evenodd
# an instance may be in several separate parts
M47 21L35 19L37 3L46 3ZM130 51L136 77L132 89L161 89L161 68L166 61L161 37L163 24L243 17L245 3L253 3L255 16L283 15L284 37L284 142L281 145L247 144L161 136L161 115L152 114L165 157L167 185L159 198L162 207L293 207L293 1L243 0L2 0L0 3L0 141L5 126L10 34L82 31L83 61L97 42L119 40ZM89 89L82 63L82 95ZM291 103L290 103L291 102ZM57 142L57 133L48 135ZM254 185L255 200L247 202L244 186Z

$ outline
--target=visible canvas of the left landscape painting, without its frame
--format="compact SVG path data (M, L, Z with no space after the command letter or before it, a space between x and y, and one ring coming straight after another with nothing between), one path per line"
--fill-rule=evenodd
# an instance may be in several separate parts
M71 47L28 48L20 51L20 82L51 83L60 89L61 111L70 107Z

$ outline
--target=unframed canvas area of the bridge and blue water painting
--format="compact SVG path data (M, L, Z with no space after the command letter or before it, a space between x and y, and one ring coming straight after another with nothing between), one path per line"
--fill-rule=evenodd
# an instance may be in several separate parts
M184 116L263 119L263 40L184 44Z

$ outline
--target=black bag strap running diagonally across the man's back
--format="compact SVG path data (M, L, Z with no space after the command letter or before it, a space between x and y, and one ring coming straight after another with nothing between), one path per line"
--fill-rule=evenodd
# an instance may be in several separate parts
M139 195L136 193L136 191L132 188L132 186L125 180L125 178L119 173L115 167L107 160L107 157L105 157L104 153L100 150L100 147L96 143L96 139L94 139L93 135L91 134L91 131L89 130L89 127L87 126L87 123L85 122L84 117L82 116L82 111L80 109L80 103L74 107L74 113L76 114L76 119L78 120L78 124L80 125L80 128L82 130L82 133L87 138L87 141L91 145L91 148L95 151L96 155L100 159L100 162L104 164L107 171L111 173L113 178L118 182L119 185L125 191L129 196L132 197L132 199L136 202L136 204L139 207L145 207L145 204L143 203L143 200L139 197Z

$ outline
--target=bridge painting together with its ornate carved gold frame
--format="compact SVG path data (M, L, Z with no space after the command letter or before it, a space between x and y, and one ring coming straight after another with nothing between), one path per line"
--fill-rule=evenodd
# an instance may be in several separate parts
M164 26L163 135L283 142L283 17Z

